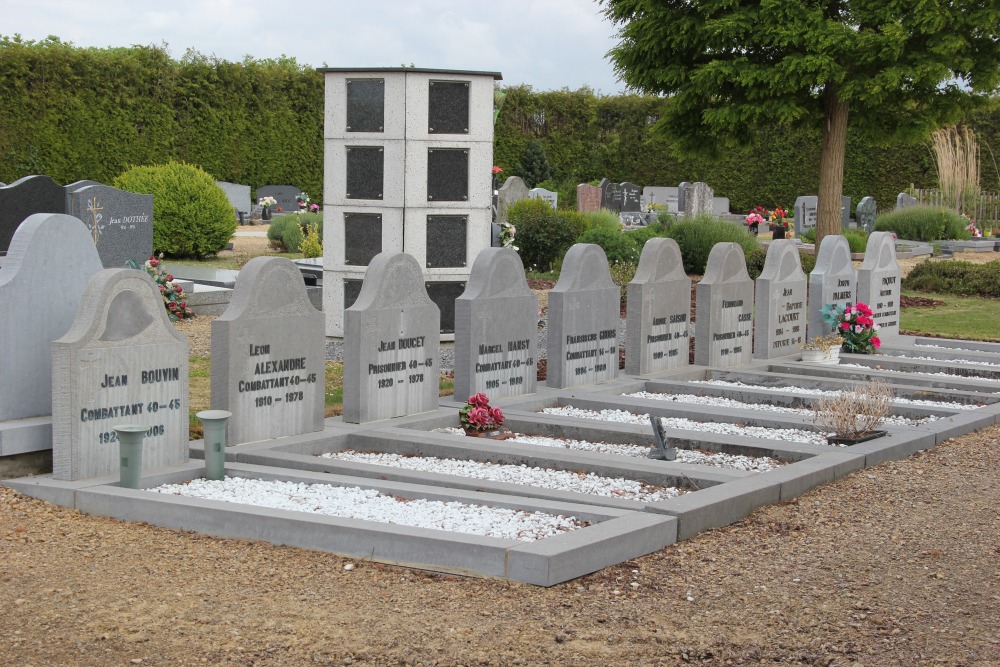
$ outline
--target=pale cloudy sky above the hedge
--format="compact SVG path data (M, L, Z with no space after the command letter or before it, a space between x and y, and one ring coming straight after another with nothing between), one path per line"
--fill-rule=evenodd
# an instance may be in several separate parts
M459 69L536 91L624 92L595 0L0 0L0 35L76 46L166 45L238 62Z

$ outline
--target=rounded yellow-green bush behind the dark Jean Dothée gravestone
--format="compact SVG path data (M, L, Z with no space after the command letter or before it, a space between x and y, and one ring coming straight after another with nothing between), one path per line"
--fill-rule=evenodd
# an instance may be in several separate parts
M236 231L233 205L215 179L182 162L132 167L115 187L153 195L153 252L171 257L213 255Z

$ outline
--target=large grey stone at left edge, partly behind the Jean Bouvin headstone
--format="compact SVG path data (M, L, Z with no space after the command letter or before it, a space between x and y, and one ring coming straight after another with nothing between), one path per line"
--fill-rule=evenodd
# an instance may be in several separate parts
M69 330L100 270L76 218L35 213L14 232L0 267L0 456L52 448L50 345Z

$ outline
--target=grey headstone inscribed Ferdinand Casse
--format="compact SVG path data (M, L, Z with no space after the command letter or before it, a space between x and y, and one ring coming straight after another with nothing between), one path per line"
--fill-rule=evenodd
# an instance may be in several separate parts
M716 243L708 255L705 277L695 289L696 364L727 368L750 362L753 292L743 248Z

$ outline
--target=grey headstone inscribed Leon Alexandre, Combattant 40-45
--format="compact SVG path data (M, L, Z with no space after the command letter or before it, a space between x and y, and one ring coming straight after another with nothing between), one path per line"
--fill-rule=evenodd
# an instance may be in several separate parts
M299 268L254 257L212 322L212 408L233 413L227 444L323 430L323 314Z

